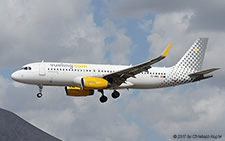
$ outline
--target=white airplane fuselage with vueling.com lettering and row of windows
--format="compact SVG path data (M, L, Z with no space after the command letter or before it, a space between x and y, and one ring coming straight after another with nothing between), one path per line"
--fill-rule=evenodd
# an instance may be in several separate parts
M131 66L40 62L23 66L21 70L12 74L12 78L25 84L81 87L80 79L82 77L102 78L106 74L129 67ZM135 77L128 78L117 88L160 88L163 87L162 83L169 76L171 70L172 68L152 67Z

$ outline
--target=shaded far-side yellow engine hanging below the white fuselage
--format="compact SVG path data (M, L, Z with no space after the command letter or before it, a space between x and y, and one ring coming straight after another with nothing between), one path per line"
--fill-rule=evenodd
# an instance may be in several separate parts
M79 87L65 87L68 96L89 96L94 95L94 90L84 90Z

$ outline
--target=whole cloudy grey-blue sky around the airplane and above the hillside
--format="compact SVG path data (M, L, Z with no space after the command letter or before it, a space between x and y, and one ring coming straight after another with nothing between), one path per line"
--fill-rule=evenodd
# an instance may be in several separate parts
M0 107L62 140L177 140L174 135L225 138L224 0L1 0ZM120 90L114 100L67 97L63 87L14 82L10 75L39 61L172 66L199 37L209 42L203 69L214 77L165 89Z

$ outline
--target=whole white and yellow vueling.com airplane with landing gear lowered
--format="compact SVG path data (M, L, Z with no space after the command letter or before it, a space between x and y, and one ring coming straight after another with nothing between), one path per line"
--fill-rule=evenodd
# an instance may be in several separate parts
M199 38L184 56L171 67L152 67L163 60L172 44L155 59L135 65L103 65L61 62L37 62L24 65L11 78L17 82L37 85L38 98L42 97L43 86L63 86L66 94L85 97L101 93L100 102L107 97L104 90L113 90L114 99L120 96L118 89L155 89L171 87L213 77L209 74L219 68L201 71L208 38Z

